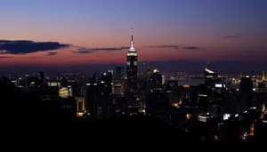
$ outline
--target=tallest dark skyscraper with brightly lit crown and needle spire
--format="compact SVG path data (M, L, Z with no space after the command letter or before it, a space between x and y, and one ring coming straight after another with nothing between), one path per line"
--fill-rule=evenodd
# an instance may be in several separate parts
M127 52L127 106L138 108L137 95L137 53L134 49L134 33L132 28L131 48Z

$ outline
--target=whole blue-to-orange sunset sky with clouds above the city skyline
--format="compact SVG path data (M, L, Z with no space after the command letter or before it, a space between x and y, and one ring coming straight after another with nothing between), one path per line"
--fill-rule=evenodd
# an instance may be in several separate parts
M266 0L1 1L0 67L123 64L132 27L139 61L267 65L266 8Z

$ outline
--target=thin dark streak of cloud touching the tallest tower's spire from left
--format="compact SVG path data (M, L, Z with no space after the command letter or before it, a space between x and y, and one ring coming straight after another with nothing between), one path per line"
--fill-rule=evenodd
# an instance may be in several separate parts
M125 46L122 46L122 47L115 47L115 48L85 48L85 47L79 47L79 46L76 46L77 48L77 51L74 51L72 53L93 53L93 52L101 52L101 51L104 51L104 52L113 52L113 51L122 51L122 50L126 50L126 49L129 49L129 47L125 47Z

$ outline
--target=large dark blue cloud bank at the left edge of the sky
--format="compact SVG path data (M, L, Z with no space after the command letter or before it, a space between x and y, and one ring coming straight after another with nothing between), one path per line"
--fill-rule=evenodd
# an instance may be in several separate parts
M69 44L58 42L34 42L28 40L0 40L0 54L28 54L33 52L47 52L69 47Z

